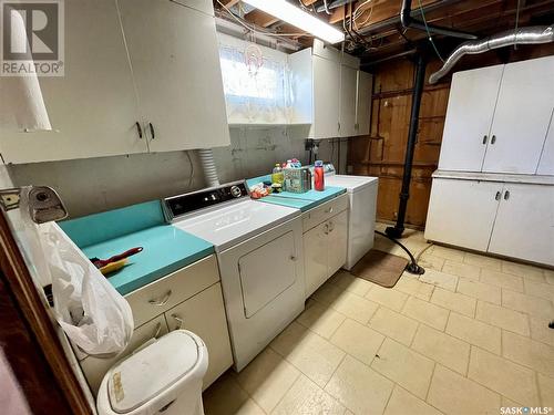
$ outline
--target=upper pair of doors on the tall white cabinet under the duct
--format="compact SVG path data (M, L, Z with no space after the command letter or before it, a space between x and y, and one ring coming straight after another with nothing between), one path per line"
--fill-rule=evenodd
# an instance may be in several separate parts
M553 85L554 56L455 73L439 169L538 173Z

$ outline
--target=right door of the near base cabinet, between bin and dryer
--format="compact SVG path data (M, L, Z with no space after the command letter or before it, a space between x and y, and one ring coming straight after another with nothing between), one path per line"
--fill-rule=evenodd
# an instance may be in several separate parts
M165 313L170 330L189 330L206 344L209 363L204 375L204 388L233 364L225 315L220 283L209 287Z

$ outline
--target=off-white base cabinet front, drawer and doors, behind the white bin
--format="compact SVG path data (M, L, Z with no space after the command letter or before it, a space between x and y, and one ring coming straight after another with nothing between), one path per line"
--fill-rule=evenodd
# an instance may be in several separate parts
M204 388L232 366L229 332L215 256L140 288L125 295L125 299L135 321L135 330L125 351L112 359L76 353L94 395L105 373L117 361L148 341L176 329L196 333L206 344L208 369L204 376Z

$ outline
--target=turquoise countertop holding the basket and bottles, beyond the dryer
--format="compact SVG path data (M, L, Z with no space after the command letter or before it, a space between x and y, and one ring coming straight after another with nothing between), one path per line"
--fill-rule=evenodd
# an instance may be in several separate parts
M248 179L246 180L246 183L248 186L254 186L261 181L269 181L270 179L271 179L270 176L260 176ZM318 190L308 190L306 193L281 191L263 197L261 199L258 200L265 201L267 204L293 207L300 209L301 211L306 211L343 193L346 193L346 188L343 187L326 186L325 190L322 191Z

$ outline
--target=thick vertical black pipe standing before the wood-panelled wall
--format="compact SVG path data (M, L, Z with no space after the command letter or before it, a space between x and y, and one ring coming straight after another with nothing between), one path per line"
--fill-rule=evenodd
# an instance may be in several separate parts
M404 231L406 209L410 198L410 181L412 176L413 151L418 139L419 110L421 106L421 96L425 84L427 60L420 52L416 61L416 81L412 92L412 107L410 114L410 128L408 131L408 143L406 145L404 174L402 176L402 189L400 190L400 203L398 205L397 225L389 226L386 232L391 238L400 238Z

